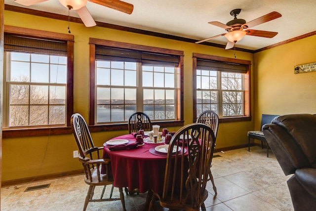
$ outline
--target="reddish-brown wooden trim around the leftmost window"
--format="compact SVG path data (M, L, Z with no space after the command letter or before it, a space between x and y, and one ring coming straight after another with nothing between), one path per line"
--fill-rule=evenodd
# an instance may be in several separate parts
M16 26L4 25L4 33L20 35L31 38L49 39L67 42L67 126L66 127L23 127L2 128L3 138L41 136L72 133L70 119L73 114L74 90L74 36L56 32L47 32L36 29L27 29Z

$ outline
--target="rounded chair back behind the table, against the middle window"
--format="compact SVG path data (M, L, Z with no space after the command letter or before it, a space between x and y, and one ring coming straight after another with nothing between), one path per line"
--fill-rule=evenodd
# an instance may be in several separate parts
M143 129L144 131L152 130L152 123L147 114L143 112L136 112L129 117L128 120L128 131L129 133L138 132Z

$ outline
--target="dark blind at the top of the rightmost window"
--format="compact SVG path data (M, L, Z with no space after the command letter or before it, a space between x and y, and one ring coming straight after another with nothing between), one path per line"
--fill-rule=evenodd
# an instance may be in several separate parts
M214 61L214 60L202 60L202 59L197 59L197 69L223 71L223 72L235 72L235 73L247 73L247 65L244 65L244 64L220 62L220 61Z

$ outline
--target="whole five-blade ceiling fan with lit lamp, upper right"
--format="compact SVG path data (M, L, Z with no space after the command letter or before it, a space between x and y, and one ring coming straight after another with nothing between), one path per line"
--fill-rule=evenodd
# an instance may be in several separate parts
M196 43L205 42L214 38L225 36L228 40L225 49L230 49L234 47L235 43L240 41L245 35L263 37L263 38L273 38L277 35L277 32L261 31L261 30L252 30L248 29L259 24L274 20L281 17L282 15L278 12L270 12L260 18L254 19L252 21L246 22L244 19L237 19L237 15L240 13L241 9L233 9L230 14L234 16L234 19L229 21L227 24L220 23L218 21L208 22L214 26L218 26L226 29L228 33L216 35L210 38L207 38Z

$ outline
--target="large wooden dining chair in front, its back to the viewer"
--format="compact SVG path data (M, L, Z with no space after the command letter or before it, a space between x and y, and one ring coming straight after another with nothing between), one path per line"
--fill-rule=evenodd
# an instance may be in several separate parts
M204 201L208 196L205 187L214 153L214 140L213 130L200 123L184 126L173 135L168 148L163 192L149 192L153 194L150 211L156 197L160 205L169 208L169 211L199 211L200 208L205 211ZM188 154L181 154L186 145Z

